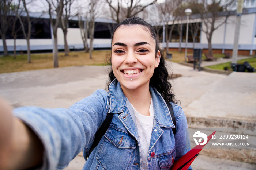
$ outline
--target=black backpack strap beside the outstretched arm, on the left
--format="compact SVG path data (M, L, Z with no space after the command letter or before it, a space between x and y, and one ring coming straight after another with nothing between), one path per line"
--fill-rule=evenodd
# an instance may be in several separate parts
M95 134L93 145L91 146L91 148L89 150L89 154L87 155L87 158L89 157L91 152L94 150L94 148L98 145L98 143L101 140L102 136L108 130L109 125L110 125L110 123L112 121L112 118L113 118L113 114L112 113L108 113L107 116L106 116L106 119L103 121L101 127L99 127L99 129L97 130L97 132Z

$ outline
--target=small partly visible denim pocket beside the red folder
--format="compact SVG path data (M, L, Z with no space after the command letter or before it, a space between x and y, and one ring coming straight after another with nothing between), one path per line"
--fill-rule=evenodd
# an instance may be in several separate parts
M175 150L171 153L166 153L158 157L158 162L161 170L170 169L175 159Z

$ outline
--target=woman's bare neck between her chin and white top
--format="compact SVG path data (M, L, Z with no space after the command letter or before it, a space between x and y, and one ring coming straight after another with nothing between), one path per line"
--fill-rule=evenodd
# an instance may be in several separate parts
M124 95L128 98L136 111L145 116L150 115L149 108L151 103L151 94L149 91L149 84L146 86L146 88L143 87L134 90L126 89L122 85L121 88Z

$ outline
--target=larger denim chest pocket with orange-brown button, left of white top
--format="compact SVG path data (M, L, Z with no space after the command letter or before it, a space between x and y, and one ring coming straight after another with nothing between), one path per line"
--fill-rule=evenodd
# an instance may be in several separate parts
M96 159L104 169L128 169L136 140L125 130L109 127Z

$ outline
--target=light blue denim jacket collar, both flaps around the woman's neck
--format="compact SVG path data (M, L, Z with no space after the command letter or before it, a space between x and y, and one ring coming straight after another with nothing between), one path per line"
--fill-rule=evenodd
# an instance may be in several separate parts
M170 111L161 94L150 86L150 93L153 100L155 120L162 127L175 127L170 115ZM109 85L109 113L121 113L124 111L127 103L120 82L114 79Z

